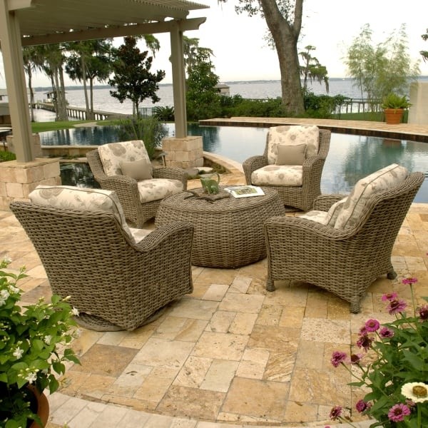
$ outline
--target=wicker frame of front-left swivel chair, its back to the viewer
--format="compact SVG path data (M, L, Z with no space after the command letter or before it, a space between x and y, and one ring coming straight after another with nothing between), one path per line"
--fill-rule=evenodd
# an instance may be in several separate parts
M140 243L113 214L13 202L54 294L70 295L76 320L93 330L133 330L193 290L193 225L170 223Z

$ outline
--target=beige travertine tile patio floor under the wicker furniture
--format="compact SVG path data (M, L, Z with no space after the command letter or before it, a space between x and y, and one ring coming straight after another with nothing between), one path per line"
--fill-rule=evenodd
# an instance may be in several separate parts
M243 183L239 165L230 169L222 183ZM0 257L12 258L14 270L25 265L29 275L21 282L25 302L49 297L26 233L12 213L0 212L0 220ZM405 275L418 278L419 296L428 295L427 252L428 204L413 204L394 246L399 277L374 282L357 315L302 282L266 292L265 260L235 270L193 267L193 293L150 325L81 329L73 346L82 364L69 367L60 392L49 397L49 427L332 425L331 407L354 408L361 396L347 386L347 371L330 365L332 351L349 352L367 318L388 319L380 297L390 290L409 297Z

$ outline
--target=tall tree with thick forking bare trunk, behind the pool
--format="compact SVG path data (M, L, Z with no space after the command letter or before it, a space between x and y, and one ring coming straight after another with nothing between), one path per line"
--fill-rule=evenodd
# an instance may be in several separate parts
M282 106L290 115L302 114L305 109L297 41L302 28L303 0L239 0L235 11L249 16L261 14L265 19L280 64Z

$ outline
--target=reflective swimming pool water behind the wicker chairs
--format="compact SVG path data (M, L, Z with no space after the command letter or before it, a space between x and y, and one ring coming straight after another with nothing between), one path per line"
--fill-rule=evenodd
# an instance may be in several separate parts
M170 136L174 125L166 124ZM203 150L216 153L242 163L250 156L261 155L265 148L267 128L235 126L198 126L189 124L190 136L203 137ZM105 144L118 141L117 131L109 126L73 128L40 133L42 145ZM389 138L353 136L332 133L330 151L322 172L322 193L349 193L357 180L370 173L399 163L410 171L428 174L428 144L392 140ZM79 165L79 166L76 166ZM63 164L61 177L64 184L92 187L87 165ZM428 203L428 183L424 181L414 202Z

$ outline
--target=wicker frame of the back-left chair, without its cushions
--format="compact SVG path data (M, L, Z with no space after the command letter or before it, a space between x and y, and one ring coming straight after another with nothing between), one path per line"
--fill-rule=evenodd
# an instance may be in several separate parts
M101 188L115 190L126 220L134 223L137 228L142 228L147 220L155 217L161 200L141 203L138 193L137 181L126 175L113 175L109 177L104 173L103 164L98 150L86 153L93 177L98 181ZM183 189L187 189L187 173L180 168L158 167L153 168L153 178L170 178L183 183Z

